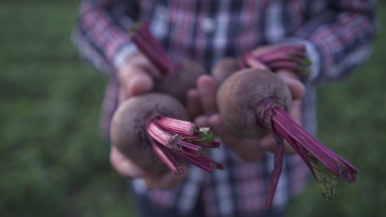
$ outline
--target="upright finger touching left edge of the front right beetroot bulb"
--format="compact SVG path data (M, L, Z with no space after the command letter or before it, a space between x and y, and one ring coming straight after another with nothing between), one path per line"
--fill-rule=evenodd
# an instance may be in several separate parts
M216 107L216 83L212 76L201 75L196 82L201 106L204 114L212 115L217 112Z

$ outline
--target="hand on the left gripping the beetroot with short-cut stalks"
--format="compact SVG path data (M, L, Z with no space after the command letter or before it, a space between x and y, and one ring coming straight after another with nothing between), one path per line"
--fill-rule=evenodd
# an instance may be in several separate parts
M159 70L143 54L130 58L118 71L119 105L130 96L149 92L154 87L154 79L160 76ZM185 174L176 176L168 171L163 175L154 175L139 167L115 146L110 149L110 163L113 168L124 178L144 178L146 185L152 189L167 189L178 186L186 177Z

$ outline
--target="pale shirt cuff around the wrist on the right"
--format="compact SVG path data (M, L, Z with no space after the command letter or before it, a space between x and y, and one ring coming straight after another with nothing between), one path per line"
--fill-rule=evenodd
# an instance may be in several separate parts
M315 80L316 78L318 78L321 70L322 55L312 42L295 37L285 38L281 42L303 44L306 48L306 57L311 61L311 65L308 66L308 69L310 70L310 75L307 79Z

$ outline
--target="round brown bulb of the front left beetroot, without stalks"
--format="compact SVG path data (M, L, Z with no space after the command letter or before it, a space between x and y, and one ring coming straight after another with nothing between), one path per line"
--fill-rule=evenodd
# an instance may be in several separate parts
M168 168L153 153L147 137L146 124L164 115L188 120L185 107L161 93L149 93L130 97L113 115L110 139L113 146L147 171L163 173Z

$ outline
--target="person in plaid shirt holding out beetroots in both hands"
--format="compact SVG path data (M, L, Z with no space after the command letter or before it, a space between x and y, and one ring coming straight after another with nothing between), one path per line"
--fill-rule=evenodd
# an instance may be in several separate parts
M375 5L371 0L81 0L73 39L80 56L109 76L101 117L107 141L119 103L151 91L151 75L158 72L127 34L139 20L149 22L173 62L194 59L208 71L224 57L261 46L304 44L311 75L303 81L291 71L278 75L293 94L290 115L316 135L316 86L342 78L366 60L376 29ZM112 146L110 161L131 180L135 207L143 216L284 216L290 199L307 183L308 168L286 146L272 208L264 209L273 137L232 135L217 114L213 78L203 75L196 83L187 93L187 107L198 125L212 125L225 144L207 154L227 170L210 174L189 167L184 176L154 177Z

